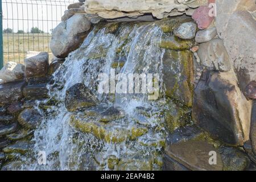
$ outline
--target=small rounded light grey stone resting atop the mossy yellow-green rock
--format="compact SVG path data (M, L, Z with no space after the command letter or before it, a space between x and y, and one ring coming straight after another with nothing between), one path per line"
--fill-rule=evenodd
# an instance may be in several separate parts
M193 39L196 35L196 24L192 22L183 23L174 30L174 35L180 39Z

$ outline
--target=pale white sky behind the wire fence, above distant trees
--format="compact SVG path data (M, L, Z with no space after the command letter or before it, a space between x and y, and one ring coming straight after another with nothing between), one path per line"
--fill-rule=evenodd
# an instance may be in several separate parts
M3 29L28 32L38 27L51 32L60 23L67 6L78 0L2 0Z

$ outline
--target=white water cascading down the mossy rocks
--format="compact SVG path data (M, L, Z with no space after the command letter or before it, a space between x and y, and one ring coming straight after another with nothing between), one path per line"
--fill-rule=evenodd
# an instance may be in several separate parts
M109 28L110 29L110 28ZM100 94L97 76L110 71L113 63L125 62L116 73L158 73L162 94L162 58L159 48L163 32L154 23L119 24L115 32L108 27L94 27L82 46L69 54L64 64L53 74L48 85L50 98L35 106L43 121L35 130L32 156L26 157L23 169L162 169L166 132L162 109L165 101L148 100L147 94ZM120 78L119 78L120 81ZM116 83L118 80L116 81ZM102 123L86 111L69 112L64 105L67 89L76 83L85 84L97 94L98 112L117 108L123 117ZM55 104L42 111L40 105ZM94 110L94 111L95 111ZM94 132L84 132L75 122L93 123L110 135L110 140ZM135 137L134 137L135 135ZM115 140L114 138L122 137ZM38 163L38 153L45 152L46 165Z

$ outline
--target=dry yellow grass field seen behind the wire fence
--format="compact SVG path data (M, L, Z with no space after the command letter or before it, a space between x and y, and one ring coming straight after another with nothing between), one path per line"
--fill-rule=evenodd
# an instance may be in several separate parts
M24 63L27 51L49 52L49 60L52 53L49 49L51 34L3 34L3 60Z

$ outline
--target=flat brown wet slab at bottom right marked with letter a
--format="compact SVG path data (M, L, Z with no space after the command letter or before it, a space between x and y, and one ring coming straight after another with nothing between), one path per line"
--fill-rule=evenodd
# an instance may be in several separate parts
M209 152L216 152L216 164L209 164ZM207 170L220 171L223 168L223 163L220 153L216 151L214 146L205 141L188 140L187 142L180 142L171 144L164 150L165 154L174 160L174 163L169 168L189 169L189 170ZM170 160L167 160L170 163ZM164 161L165 163L165 161ZM180 164L177 165L176 163ZM184 167L183 167L184 166Z

